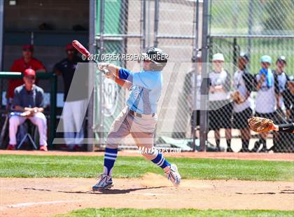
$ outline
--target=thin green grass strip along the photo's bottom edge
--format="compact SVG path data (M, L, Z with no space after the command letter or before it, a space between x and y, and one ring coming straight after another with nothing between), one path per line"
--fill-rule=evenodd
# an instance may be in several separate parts
M197 209L80 209L59 217L75 216L293 216L294 211Z

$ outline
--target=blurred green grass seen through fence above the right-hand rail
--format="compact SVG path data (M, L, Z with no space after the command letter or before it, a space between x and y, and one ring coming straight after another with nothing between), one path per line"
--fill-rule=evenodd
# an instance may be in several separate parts
M282 2L282 3L281 3ZM262 33L266 30L282 29L283 31L291 31L294 28L293 1L252 1L252 12L249 12L249 1L234 1L234 0L216 0L210 1L210 20L211 31L219 29L223 33L231 34L247 34L249 15L253 18L253 32L262 28ZM279 18L279 12L282 11L283 17ZM278 19L269 19L272 14L275 14ZM272 20L272 23L270 22ZM279 23L279 22L283 23ZM266 22L266 24L264 24ZM271 25L272 24L272 25ZM279 28L280 27L280 28ZM258 31L258 30L257 30ZM290 33L289 33L290 34Z

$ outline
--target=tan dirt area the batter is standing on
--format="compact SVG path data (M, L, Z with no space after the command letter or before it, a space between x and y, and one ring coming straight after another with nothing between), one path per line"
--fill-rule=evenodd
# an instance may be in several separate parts
M48 216L86 207L294 210L294 183L183 180L172 187L164 176L114 179L104 193L93 179L1 179L1 216Z

